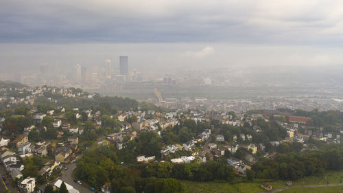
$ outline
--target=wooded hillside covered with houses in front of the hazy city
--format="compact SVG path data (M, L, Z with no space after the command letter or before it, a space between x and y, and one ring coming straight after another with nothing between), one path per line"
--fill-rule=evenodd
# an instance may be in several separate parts
M185 111L25 85L0 93L1 175L23 192L59 189L71 163L74 181L104 193L182 192L181 180L296 180L343 169L340 111Z

